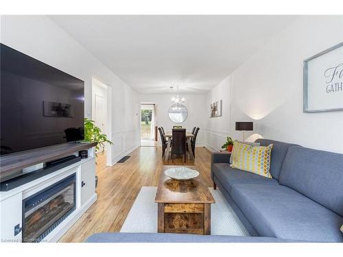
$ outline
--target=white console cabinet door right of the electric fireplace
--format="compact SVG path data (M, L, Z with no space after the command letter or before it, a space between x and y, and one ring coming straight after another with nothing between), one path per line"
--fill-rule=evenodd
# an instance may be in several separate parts
M81 164L81 197L80 206L95 194L95 158Z

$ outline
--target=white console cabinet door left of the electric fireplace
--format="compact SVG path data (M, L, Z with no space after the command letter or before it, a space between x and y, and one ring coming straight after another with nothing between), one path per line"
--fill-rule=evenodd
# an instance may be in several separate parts
M21 242L22 205L22 193L0 201L0 242Z

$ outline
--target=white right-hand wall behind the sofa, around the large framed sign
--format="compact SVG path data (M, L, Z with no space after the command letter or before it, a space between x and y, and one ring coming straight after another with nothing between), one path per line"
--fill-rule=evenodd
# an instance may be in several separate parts
M342 40L342 16L307 16L271 38L230 75L231 123L223 130L241 138L235 121L254 121L247 140L262 136L343 153L343 112L303 112L303 60ZM226 87L211 94L228 95Z

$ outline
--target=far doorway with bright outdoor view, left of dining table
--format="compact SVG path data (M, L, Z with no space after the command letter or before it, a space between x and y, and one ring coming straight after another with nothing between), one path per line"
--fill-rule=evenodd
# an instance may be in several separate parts
M141 104L141 146L155 147L155 105Z

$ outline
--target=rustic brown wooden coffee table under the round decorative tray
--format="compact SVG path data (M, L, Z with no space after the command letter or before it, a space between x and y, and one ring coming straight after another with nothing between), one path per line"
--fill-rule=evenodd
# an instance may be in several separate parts
M193 180L172 180L163 166L155 202L158 204L158 232L211 234L211 204L215 203L209 188L198 177ZM188 167L195 169L195 167Z

